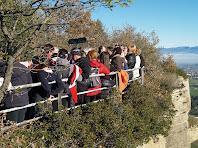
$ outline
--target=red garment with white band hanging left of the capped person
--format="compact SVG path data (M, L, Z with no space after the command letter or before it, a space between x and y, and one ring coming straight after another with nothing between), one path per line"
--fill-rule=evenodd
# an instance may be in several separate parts
M76 80L81 74L82 74L82 69L79 66L74 65L73 76L71 78L71 84L69 85L69 89L75 103L78 103Z

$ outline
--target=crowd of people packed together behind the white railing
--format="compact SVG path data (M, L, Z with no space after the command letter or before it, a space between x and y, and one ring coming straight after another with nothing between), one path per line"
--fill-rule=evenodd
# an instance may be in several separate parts
M101 91L99 88L112 87L115 84L115 77L110 76L110 72L121 72L144 65L141 50L134 44L128 47L118 44L107 48L100 46L98 51L92 48L83 50L74 48L70 53L66 49L58 49L46 44L41 50L44 54L35 56L28 62L17 58L11 77L12 86L36 82L41 82L41 86L7 91L1 102L1 110L46 99L50 101L61 92L69 96L62 99L64 107L86 104L107 96L109 90ZM5 77L6 68L7 64L1 62L1 78ZM105 74L105 76L90 78L92 74ZM128 72L127 75L129 79L135 79L140 76L140 71L137 69ZM68 78L68 81L62 81L64 78ZM55 83L49 83L53 81ZM77 96L77 92L83 91L89 92ZM58 101L51 103L53 110L58 110ZM7 113L7 120L22 122L39 116L40 112L38 106L24 108Z

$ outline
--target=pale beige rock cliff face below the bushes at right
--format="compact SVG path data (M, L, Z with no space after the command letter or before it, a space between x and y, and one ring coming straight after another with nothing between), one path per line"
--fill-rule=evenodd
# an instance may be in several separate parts
M173 91L172 101L175 106L176 115L174 116L171 130L168 137L159 136L157 142L152 140L139 146L138 148L190 148L190 136L188 132L188 112L191 108L189 80L179 77L177 88Z

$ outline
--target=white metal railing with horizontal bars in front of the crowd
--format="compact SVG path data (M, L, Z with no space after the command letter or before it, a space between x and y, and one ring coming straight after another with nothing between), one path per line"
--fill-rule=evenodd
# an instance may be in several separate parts
M125 70L127 72L131 71L135 71L135 70L139 70L141 69L141 75L140 77L138 78L133 78L132 80L129 80L129 83L132 82L132 81L136 81L136 80L139 80L141 79L141 84L144 85L144 67L142 68L134 68L134 69L128 69L128 70ZM117 90L119 89L119 84L118 84L118 72L111 72L109 75L116 75L116 85L113 86L113 87L116 87ZM97 74L97 75L91 75L90 77L98 77L98 76L105 76L105 74ZM63 82L67 82L67 78L64 78L62 79ZM55 81L52 81L52 82L49 82L49 84L54 84L56 83ZM10 90L16 90L16 89L22 89L22 88L30 88L30 87L37 87L37 86L41 86L41 82L38 82L38 83L32 83L32 84L26 84L26 85L19 85L19 86L12 86L10 88ZM98 88L98 89L94 89L94 90L89 90L89 91L83 91L83 92L78 92L77 95L82 95L82 94L86 94L86 93L90 93L90 92L94 92L94 91L98 91L98 90L105 90L105 89L110 89L112 87L101 87L101 88ZM51 101L55 101L55 100L58 100L58 102L62 102L62 99L63 98L67 98L69 97L68 95L64 95L62 96L61 93L58 94L58 97L56 98L52 98ZM28 105L25 105L25 106L22 106L22 107L14 107L14 108L10 108L10 109L5 109L5 110L1 110L0 111L0 114L3 114L3 113L8 113L8 112L12 112L12 111L16 111L16 110L20 110L20 109L24 109L24 108L28 108L28 107L33 107L33 106L36 106L38 103L45 103L47 102L48 100L44 100L44 101L39 101L39 102L35 102L35 103L31 103L31 104L28 104ZM94 101L95 103L98 102L98 101ZM59 104L59 108L62 104L60 103ZM79 105L80 106L80 105ZM76 107L79 107L79 106L75 106L75 107L72 107L72 108L76 108ZM68 110L70 110L71 108L67 108ZM12 125L12 126L20 126L20 125L23 125L23 124L26 124L26 123L29 123L31 121L34 121L34 120L38 120L42 117L36 117L36 118L33 118L33 119L30 119L30 120L25 120L21 123L17 123L15 125ZM12 126L10 127L6 127L6 128L1 128L1 131L3 130L6 130L8 128L11 128Z

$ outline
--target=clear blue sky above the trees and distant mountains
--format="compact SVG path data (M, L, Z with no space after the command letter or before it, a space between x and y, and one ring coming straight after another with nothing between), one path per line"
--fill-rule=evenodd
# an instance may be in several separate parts
M92 19L108 29L130 24L137 31L155 30L158 46L198 46L198 0L134 0L130 7L97 8Z

